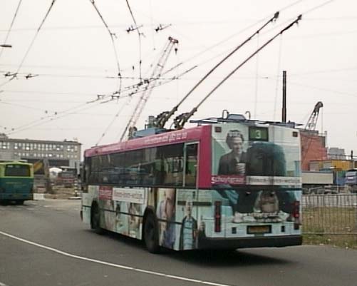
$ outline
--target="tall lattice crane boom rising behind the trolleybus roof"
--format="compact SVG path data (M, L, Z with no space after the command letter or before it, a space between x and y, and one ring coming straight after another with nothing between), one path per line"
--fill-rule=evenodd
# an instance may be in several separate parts
M145 89L142 93L142 95L139 98L139 101L137 105L135 106L135 109L133 111L132 116L130 117L128 124L125 126L125 129L123 131L122 136L120 137L120 141L123 141L123 138L127 131L129 131L128 137L131 138L133 136L133 132L136 130L135 125L138 122L138 119L140 118L141 113L143 112L143 109L145 107L145 104L148 102L148 99L152 93L152 86L155 86L155 83L158 79L160 79L162 69L165 66L165 63L167 62L167 58L169 58L170 53L172 51L172 48L175 47L175 52L177 51L177 44L178 40L173 39L172 37L169 37L167 44L163 48L163 51L160 55L159 60L157 61L157 64L155 65L154 69L152 70L150 78L148 80L144 81L144 84L146 84Z

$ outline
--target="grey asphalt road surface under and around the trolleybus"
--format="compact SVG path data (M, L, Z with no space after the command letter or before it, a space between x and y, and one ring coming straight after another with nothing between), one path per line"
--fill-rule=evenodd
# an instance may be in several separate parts
M78 200L0 205L0 286L357 285L357 252L326 246L152 255L97 235Z

